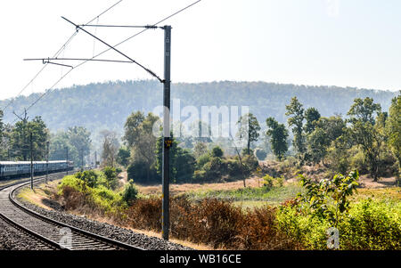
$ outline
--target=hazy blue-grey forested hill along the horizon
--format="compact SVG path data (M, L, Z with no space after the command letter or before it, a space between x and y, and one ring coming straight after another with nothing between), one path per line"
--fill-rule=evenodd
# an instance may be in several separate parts
M346 115L355 98L372 97L388 110L391 99L399 93L328 86L280 85L263 82L179 83L171 86L172 98L186 105L248 105L259 122L273 116L285 121L285 105L297 96L306 108L315 107L322 116ZM22 112L39 94L16 98L4 113L11 122L12 110ZM0 101L4 107L9 100ZM49 93L29 110L29 118L42 116L52 131L68 126L86 126L92 133L102 129L122 132L127 116L134 110L148 112L162 103L162 85L156 81L127 81L77 85ZM264 123L262 123L264 125Z

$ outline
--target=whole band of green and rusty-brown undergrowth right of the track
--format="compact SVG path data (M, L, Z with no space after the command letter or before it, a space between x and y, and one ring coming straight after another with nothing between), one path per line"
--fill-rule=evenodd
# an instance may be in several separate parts
M170 200L171 235L212 248L327 249L327 230L335 226L340 249L399 250L399 188L365 199L372 191L358 196L358 179L355 172L320 183L301 177L301 184L282 185L280 179L266 176L260 188L226 191L223 196L221 192L177 195ZM66 176L55 199L79 215L160 232L161 197L139 193L132 182L110 187L110 181L99 171ZM234 204L246 199L277 202L250 208Z

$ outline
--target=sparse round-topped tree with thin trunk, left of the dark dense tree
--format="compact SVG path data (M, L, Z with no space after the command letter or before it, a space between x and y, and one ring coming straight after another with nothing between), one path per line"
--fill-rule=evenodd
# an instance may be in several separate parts
M258 119L251 113L242 116L238 123L240 125L240 139L247 141L248 155L250 155L250 143L258 141L260 126Z

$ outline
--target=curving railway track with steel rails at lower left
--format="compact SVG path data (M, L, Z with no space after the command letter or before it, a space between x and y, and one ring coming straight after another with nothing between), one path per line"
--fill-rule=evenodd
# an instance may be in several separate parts
M64 173L50 175L49 180L61 178ZM36 179L36 183L44 177ZM23 232L27 244L35 245L29 249L64 249L64 250L143 250L135 246L102 237L98 234L78 229L65 223L57 222L39 215L24 207L15 198L16 191L29 182L12 183L0 187L0 218Z

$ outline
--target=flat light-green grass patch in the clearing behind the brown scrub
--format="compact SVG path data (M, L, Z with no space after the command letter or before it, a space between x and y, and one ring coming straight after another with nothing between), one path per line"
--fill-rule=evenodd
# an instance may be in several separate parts
M299 184L293 183L282 187L274 188L243 188L238 190L221 191L192 191L187 195L192 200L205 198L230 199L234 204L242 207L261 207L264 205L276 206L287 199L297 196L302 188Z

